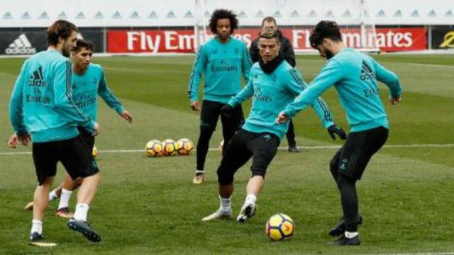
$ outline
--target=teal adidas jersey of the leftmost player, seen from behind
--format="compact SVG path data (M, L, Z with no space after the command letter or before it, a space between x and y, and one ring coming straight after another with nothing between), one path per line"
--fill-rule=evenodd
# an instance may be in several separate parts
M23 63L11 95L9 116L18 134L33 142L66 140L92 130L94 120L72 100L72 64L55 50L38 52Z

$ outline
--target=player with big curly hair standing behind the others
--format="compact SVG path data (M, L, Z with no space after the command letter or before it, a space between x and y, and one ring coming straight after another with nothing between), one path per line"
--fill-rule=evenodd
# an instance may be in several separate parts
M210 30L215 37L201 45L194 60L189 79L188 94L192 110L200 111L199 82L204 73L204 99L200 114L200 135L197 142L196 174L193 183L204 181L204 166L209 141L216 128L221 107L241 90L241 74L249 79L250 58L243 42L231 36L238 28L238 19L232 11L217 9L210 19ZM230 119L221 115L225 144L244 122L241 106L236 106Z

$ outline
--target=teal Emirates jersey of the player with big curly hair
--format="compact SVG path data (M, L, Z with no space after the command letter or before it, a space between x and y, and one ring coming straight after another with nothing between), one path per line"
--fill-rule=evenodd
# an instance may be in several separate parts
M246 45L233 37L226 44L213 38L197 52L189 78L189 101L199 101L204 73L204 100L227 103L241 90L241 74L249 79L250 57Z

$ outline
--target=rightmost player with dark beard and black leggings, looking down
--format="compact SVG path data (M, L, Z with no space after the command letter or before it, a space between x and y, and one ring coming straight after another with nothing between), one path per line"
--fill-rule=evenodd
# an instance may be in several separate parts
M330 164L331 174L341 193L343 219L329 234L341 235L332 244L359 245L358 225L362 218L358 212L356 182L361 179L370 158L386 142L389 129L377 81L388 86L389 101L393 105L400 101L402 87L397 75L372 57L345 47L341 30L335 22L320 21L309 40L328 62L310 86L279 114L277 122L286 123L288 118L311 105L331 86L336 88L351 130Z

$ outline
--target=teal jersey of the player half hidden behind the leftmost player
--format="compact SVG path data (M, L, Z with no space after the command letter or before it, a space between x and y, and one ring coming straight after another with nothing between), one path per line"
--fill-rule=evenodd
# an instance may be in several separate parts
M72 74L72 97L77 108L97 120L98 95L117 113L124 111L120 101L107 86L104 71L99 64L89 64L87 71Z

